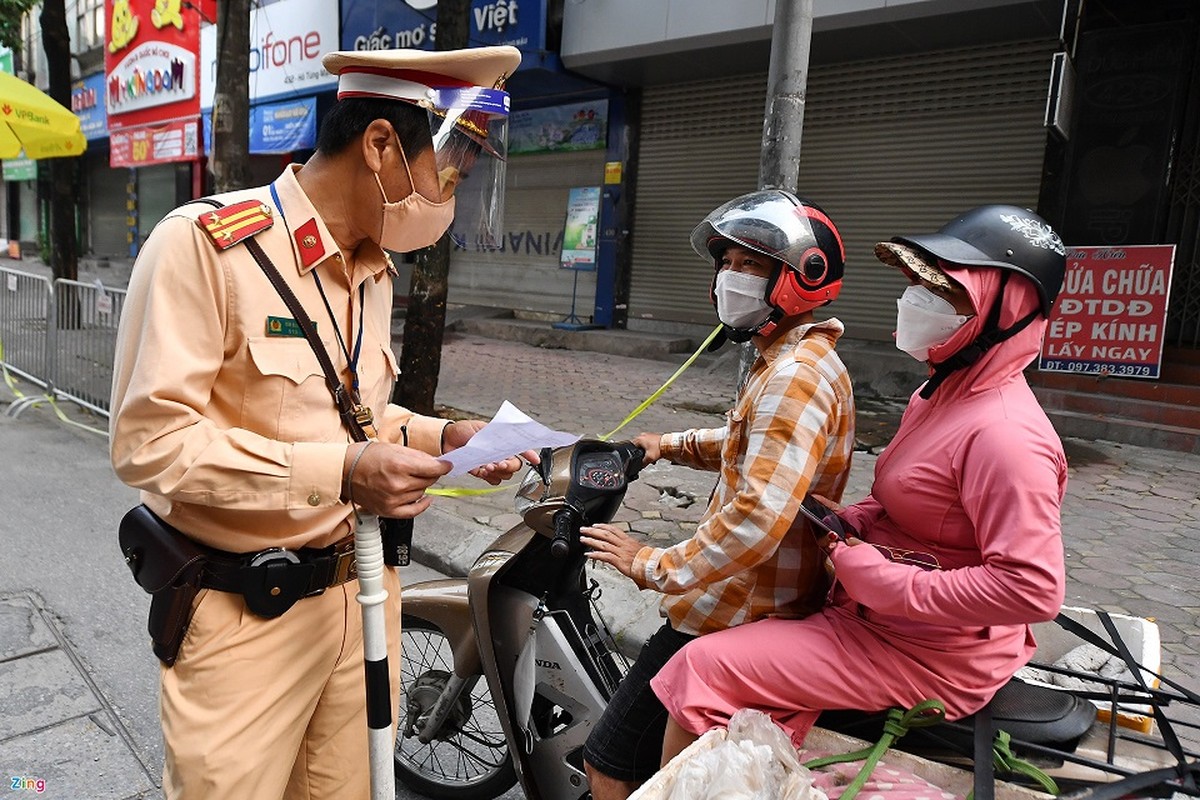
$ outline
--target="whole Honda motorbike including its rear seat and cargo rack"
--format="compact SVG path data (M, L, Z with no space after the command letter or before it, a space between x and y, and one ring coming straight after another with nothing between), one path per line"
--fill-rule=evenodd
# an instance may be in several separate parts
M500 534L466 578L403 589L395 771L410 789L488 800L520 782L529 800L590 796L583 742L629 664L596 610L580 528L613 518L643 458L632 443L590 439L542 451L516 491L522 523ZM1159 685L1157 674L1147 682L1150 674L1140 664L1127 679L1078 674L1091 682L1074 691L1014 679L984 711L895 746L973 770L976 800L992 796L994 778L1044 786L995 758L997 730L1007 752L1064 790L1200 796L1198 756L1174 733L1200 729L1187 718L1196 718L1200 698L1174 681ZM1183 714L1172 717L1172 704ZM1140 732L1118 724L1130 715ZM881 720L827 712L818 726L875 739ZM1105 787L1115 788L1102 794Z

